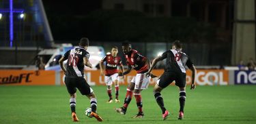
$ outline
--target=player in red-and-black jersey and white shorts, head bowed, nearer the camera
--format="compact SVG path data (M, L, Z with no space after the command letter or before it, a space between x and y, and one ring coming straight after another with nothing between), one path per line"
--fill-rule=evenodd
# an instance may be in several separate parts
M134 118L142 118L144 114L142 110L141 91L143 89L147 89L150 81L150 77L146 77L145 75L148 68L150 67L150 61L141 54L139 54L137 50L132 49L132 45L130 45L130 43L123 43L122 49L126 58L126 63L128 65L128 69L124 72L123 75L130 73L130 70L132 68L137 71L137 75L132 79L132 81L130 81L127 87L124 105L121 108L116 108L115 110L122 115L126 114L126 110L128 108L128 104L132 100L132 92L134 90L134 97L136 99L137 107L139 109L138 114L134 116Z

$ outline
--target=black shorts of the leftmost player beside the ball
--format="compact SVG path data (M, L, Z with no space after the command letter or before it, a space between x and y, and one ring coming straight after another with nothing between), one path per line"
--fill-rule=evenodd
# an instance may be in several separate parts
M89 95L93 92L83 77L65 77L65 84L70 94L76 93L76 88L82 95Z

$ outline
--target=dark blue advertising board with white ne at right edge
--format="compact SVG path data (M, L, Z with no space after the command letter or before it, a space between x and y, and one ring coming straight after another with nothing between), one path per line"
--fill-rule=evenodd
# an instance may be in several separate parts
M256 85L256 70L236 70L235 84L255 84Z

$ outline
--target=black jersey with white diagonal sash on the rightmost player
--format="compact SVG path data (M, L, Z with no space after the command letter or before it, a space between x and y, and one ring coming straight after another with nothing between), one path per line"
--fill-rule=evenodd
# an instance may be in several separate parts
M164 60L165 58L167 58L165 71L186 73L185 66L188 66L188 68L193 66L193 62L191 62L188 55L186 55L184 52L178 51L176 49L171 49L171 50L165 51L160 56L160 60Z

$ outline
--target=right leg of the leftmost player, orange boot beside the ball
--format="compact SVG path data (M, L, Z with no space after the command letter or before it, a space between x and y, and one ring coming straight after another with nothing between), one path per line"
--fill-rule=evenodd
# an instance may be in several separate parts
M97 110L97 99L94 94L94 90L88 85L84 78L80 78L77 81L77 88L82 95L87 96L91 104L91 117L95 117L98 121L102 121L102 118L96 113Z

